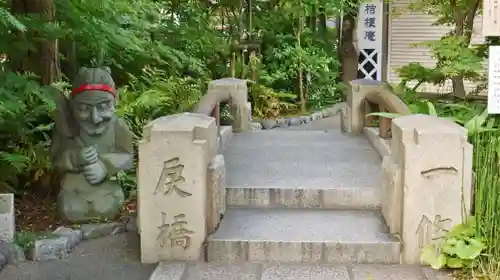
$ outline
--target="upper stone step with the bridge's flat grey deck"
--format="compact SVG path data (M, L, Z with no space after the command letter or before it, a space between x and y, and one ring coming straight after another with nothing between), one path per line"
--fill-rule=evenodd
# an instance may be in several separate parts
M363 137L321 131L237 134L224 159L229 206L380 207L381 161Z

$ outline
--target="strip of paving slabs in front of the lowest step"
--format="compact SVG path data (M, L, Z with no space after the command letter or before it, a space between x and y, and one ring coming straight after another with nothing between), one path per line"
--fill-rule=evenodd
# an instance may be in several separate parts
M428 268L405 265L163 263L151 280L450 280Z

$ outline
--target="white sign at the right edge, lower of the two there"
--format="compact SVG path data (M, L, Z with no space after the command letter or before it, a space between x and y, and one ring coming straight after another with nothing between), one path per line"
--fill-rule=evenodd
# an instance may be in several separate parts
M500 46L489 47L488 114L500 114Z

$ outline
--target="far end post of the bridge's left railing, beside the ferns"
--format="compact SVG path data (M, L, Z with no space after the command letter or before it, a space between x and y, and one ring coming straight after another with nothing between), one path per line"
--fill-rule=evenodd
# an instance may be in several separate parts
M213 92L213 93L212 93ZM233 131L250 130L251 110L248 108L248 87L246 80L224 78L210 82L207 95L230 96L232 100L231 114L234 117Z

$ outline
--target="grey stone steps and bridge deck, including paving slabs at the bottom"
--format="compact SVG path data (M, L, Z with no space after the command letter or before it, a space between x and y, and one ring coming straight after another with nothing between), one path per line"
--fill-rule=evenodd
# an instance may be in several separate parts
M452 279L400 264L381 215L380 156L330 120L225 135L227 209L205 259L160 262L150 280Z

